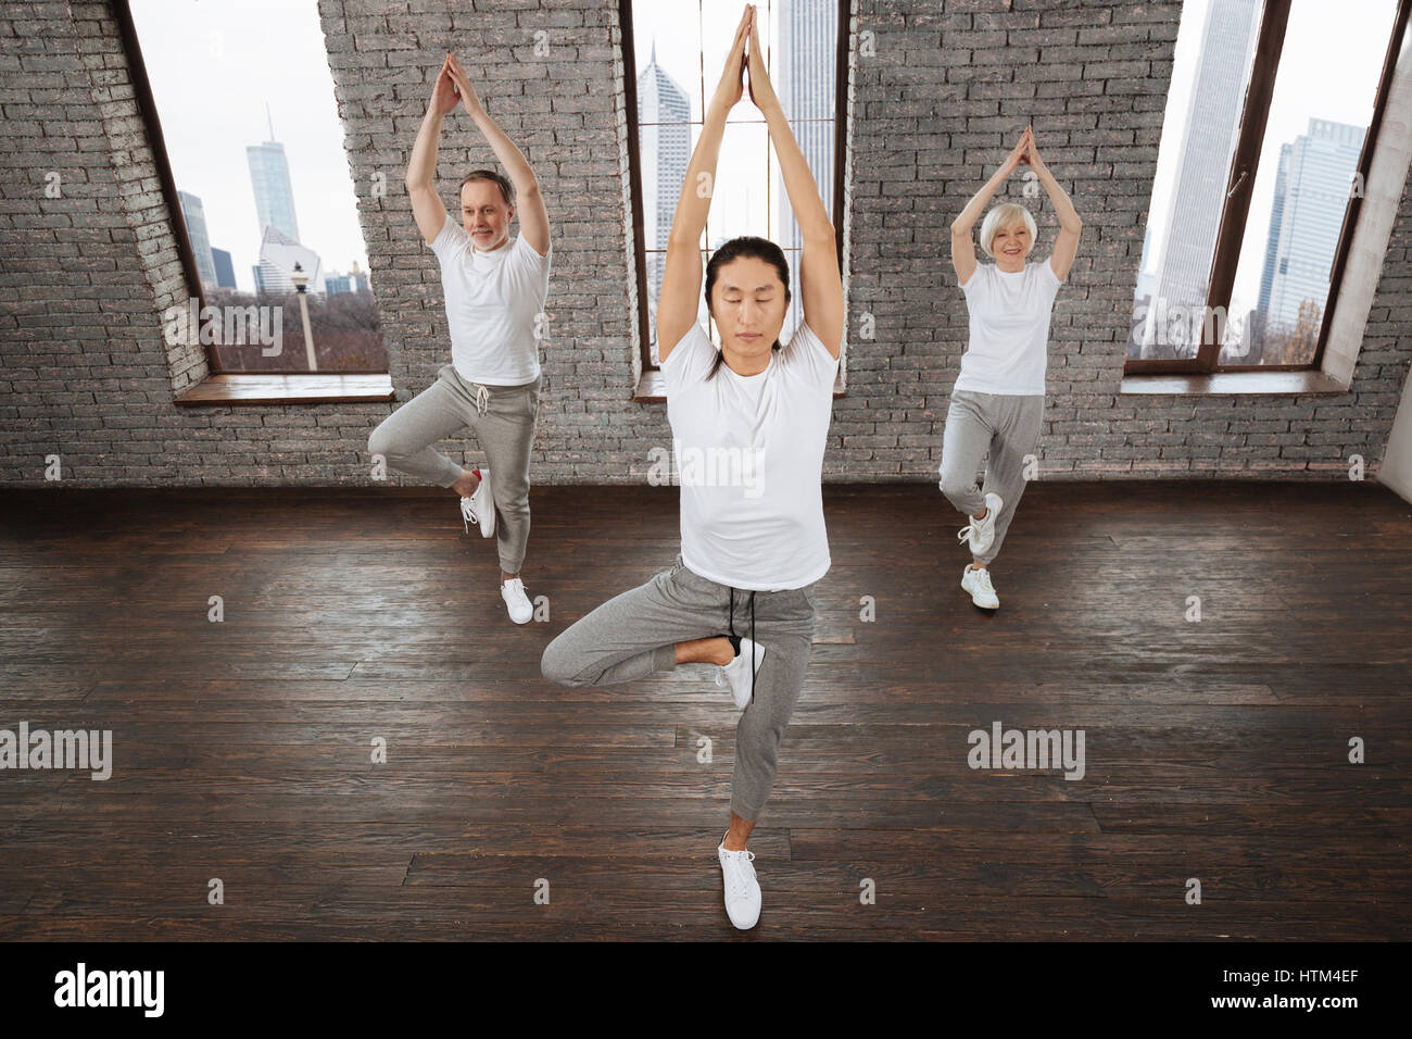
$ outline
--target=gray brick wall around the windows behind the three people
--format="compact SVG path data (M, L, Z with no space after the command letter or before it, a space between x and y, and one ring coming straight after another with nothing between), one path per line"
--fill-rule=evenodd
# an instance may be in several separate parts
M669 430L662 404L631 400L617 4L479 7L319 3L398 397L449 359L436 262L401 180L428 76L453 49L535 165L554 222L534 481L640 481ZM1375 474L1412 352L1406 192L1350 393L1115 393L1179 14L1175 0L860 0L875 54L854 74L849 393L827 479L935 478L966 344L947 225L1027 119L1084 219L1055 310L1042 474L1341 479L1350 454ZM548 57L534 54L541 30ZM161 335L186 286L109 6L3 4L0 110L0 481L42 482L58 454L68 485L367 483L367 435L390 404L171 403L206 360ZM443 198L453 204L463 171L491 157L452 116ZM377 172L384 198L371 192ZM44 196L51 174L59 199ZM1046 253L1056 225L1048 199L1032 208ZM864 312L873 339L857 336ZM443 447L479 457L473 441Z

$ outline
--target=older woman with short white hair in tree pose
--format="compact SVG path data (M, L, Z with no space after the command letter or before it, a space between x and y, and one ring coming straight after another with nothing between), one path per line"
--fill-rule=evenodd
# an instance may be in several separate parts
M971 228L986 204L1010 175L1028 163L1045 185L1059 218L1059 237L1048 260L1027 263L1035 246L1035 218L1017 202L986 213L980 246L994 263L976 263ZM1059 286L1079 252L1083 222L1063 188L1041 161L1032 127L952 223L952 266L970 311L970 342L952 387L942 441L940 488L970 523L966 541L971 563L962 588L977 606L995 609L1000 598L988 565L1000 553L1005 530L1025 489L1025 458L1039 442L1045 409L1045 366L1049 314ZM986 482L976 483L987 455Z

